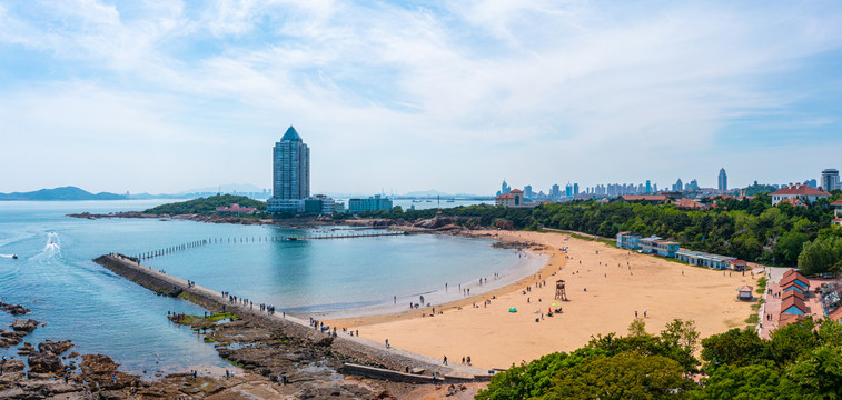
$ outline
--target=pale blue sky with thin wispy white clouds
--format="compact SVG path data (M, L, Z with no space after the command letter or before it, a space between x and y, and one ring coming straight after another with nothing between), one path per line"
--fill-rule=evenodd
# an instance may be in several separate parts
M840 71L839 1L0 0L0 192L798 182Z

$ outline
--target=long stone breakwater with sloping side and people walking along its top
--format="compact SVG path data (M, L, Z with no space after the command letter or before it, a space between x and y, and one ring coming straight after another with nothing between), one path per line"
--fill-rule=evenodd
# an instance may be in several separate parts
M179 297L214 312L237 313L244 320L280 329L285 334L301 339L306 343L309 343L308 346L324 346L326 342L329 342L330 349L334 352L341 354L355 364L390 371L420 369L428 376L435 373L439 377L439 381L444 382L485 381L491 378L488 371L476 367L458 363L445 366L439 359L397 348L386 348L382 343L375 343L358 336L351 337L339 330L337 330L335 337L329 333L323 333L321 330L314 329L309 321L283 313L269 313L262 311L260 307L230 302L229 296L153 270L122 254L106 254L93 261L156 293ZM435 340L435 338L433 337L430 340ZM360 370L364 369L351 367L347 368L346 372L357 373ZM372 370L367 371L369 374L373 374ZM378 372L375 376L384 379L400 377L385 372Z

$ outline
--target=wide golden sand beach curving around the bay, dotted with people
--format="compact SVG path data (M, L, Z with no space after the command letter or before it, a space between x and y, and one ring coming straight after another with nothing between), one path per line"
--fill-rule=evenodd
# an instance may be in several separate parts
M541 278L528 277L488 293L434 304L436 312L444 311L435 317L422 318L420 311L410 311L325 322L359 330L361 337L375 342L388 339L392 346L405 350L437 358L447 356L449 362L460 362L469 356L474 366L506 369L554 351L575 350L597 333L625 336L635 311L644 318L646 310L646 330L651 333L680 318L695 321L702 338L743 328L744 320L756 312L751 303L736 300L736 288L756 286L755 278L760 276L752 278L750 272L723 274L564 233L472 233L542 246L544 250L538 252L549 257ZM562 248L567 248L567 253ZM558 279L566 281L569 301L554 299ZM544 280L545 286L535 287ZM532 290L524 294L527 286ZM484 307L492 297L496 299ZM563 313L547 317L548 309L556 308L552 306L555 302ZM509 312L511 307L517 312Z

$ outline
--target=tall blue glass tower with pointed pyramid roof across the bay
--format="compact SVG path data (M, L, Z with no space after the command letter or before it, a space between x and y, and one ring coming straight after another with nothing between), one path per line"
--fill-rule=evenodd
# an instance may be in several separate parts
M310 196L310 149L293 126L273 150L273 196L269 212L304 212Z

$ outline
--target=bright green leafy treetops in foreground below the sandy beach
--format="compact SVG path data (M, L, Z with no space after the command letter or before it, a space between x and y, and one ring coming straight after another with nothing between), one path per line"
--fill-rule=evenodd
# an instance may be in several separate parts
M701 341L692 321L648 334L643 320L626 337L592 338L492 378L476 399L840 399L842 324L805 320L761 339L752 328ZM692 377L702 378L694 380Z

